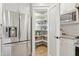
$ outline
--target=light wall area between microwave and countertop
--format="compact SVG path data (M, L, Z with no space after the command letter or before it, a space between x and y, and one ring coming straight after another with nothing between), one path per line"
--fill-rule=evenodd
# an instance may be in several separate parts
M79 24L62 25L61 28L71 35L79 35Z

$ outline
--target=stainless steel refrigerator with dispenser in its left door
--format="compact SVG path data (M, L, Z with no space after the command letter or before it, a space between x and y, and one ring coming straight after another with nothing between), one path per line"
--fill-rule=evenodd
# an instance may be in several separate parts
M32 54L30 13L3 9L2 56Z

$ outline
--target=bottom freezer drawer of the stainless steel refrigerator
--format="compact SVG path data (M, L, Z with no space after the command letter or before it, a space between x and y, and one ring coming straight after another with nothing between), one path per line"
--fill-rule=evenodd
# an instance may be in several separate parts
M6 44L2 46L3 56L28 56L30 55L30 42Z

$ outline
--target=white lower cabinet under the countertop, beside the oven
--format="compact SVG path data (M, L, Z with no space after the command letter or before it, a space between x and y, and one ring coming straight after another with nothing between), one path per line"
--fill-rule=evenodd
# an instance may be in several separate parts
M60 39L60 55L75 56L74 40L66 38Z

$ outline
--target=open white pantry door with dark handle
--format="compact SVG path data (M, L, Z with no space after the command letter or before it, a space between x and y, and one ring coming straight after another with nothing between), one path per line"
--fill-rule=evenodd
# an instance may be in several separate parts
M59 4L49 8L49 55L59 55L60 13Z

